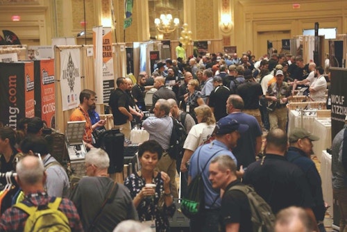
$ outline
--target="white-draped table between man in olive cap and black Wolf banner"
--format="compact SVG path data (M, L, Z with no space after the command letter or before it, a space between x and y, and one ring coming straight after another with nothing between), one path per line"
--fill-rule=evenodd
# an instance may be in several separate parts
M314 141L312 143L313 152L321 162L322 151L326 150L328 147L331 147L331 118L315 118L312 133L320 138L318 141Z

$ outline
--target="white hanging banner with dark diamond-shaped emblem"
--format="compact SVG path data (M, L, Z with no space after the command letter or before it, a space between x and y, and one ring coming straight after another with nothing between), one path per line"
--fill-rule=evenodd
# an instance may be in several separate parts
M78 106L81 92L80 74L80 49L64 49L60 51L62 110L69 110Z

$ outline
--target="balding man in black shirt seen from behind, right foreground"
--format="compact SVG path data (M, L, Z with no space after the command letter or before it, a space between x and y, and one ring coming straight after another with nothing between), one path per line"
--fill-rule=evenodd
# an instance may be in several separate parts
M287 147L287 133L272 129L266 136L266 154L262 160L248 165L242 183L253 185L255 192L271 206L274 214L289 206L300 206L316 222L310 185L301 168L286 160ZM315 231L319 231L315 225Z

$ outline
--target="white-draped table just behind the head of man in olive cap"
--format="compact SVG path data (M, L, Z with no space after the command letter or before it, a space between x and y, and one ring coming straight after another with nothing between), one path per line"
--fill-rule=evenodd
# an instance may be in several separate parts
M310 115L311 112L312 114ZM311 112L305 112L305 114L301 116L301 111L289 110L288 135L294 128L301 128L301 117L303 117L303 128L305 128L307 131L312 132L314 128L314 118L316 117L316 114L314 113L314 110L312 110Z

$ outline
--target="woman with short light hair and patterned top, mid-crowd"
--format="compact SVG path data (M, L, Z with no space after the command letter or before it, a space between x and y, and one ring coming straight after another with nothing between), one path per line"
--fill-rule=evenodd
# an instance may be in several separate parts
M203 101L201 92L198 91L199 88L200 86L199 86L198 80L196 79L190 80L187 84L188 96L185 98L185 102L186 102L185 111L194 118L195 123L198 123L198 120L195 117L194 108L201 105L205 105L205 101Z

